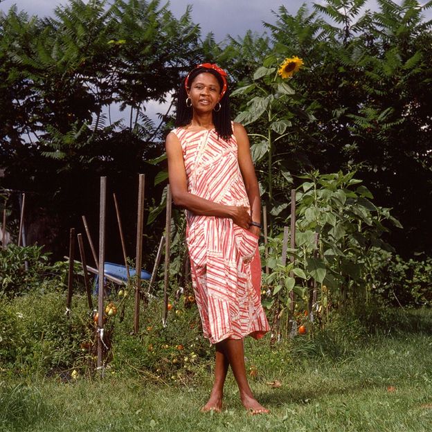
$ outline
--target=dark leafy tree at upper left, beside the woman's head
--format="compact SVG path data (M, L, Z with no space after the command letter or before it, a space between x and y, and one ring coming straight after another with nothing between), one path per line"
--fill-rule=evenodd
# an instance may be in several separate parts
M0 17L3 186L36 192L65 226L96 207L100 175L132 199L160 152L145 107L197 62L198 37L190 8L176 19L158 0L71 0L46 18L12 7ZM111 122L114 104L125 121Z

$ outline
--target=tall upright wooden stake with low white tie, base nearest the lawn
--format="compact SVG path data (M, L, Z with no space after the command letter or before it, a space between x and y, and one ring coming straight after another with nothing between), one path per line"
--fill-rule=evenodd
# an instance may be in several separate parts
M98 369L103 368L102 344L103 341L103 318L104 318L104 273L105 273L105 218L107 210L107 177L100 177L100 204L99 204L99 280L98 280ZM105 345L106 346L106 345Z

